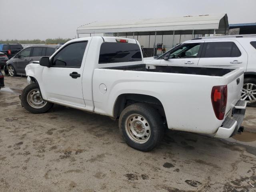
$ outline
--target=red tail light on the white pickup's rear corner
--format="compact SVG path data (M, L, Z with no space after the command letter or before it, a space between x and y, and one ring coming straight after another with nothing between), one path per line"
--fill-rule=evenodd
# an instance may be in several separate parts
M226 112L227 98L228 98L228 86L214 86L212 88L212 106L216 118L223 120Z

